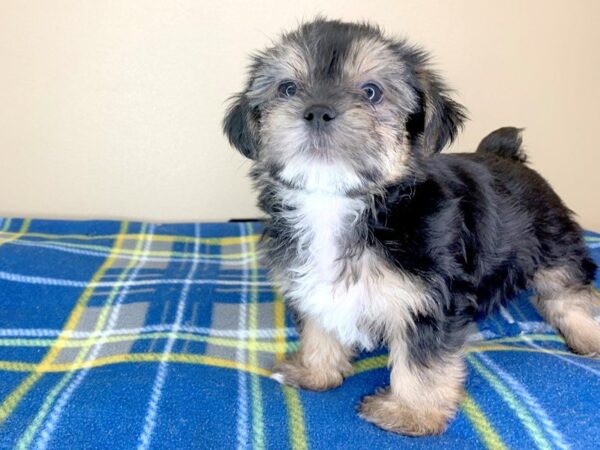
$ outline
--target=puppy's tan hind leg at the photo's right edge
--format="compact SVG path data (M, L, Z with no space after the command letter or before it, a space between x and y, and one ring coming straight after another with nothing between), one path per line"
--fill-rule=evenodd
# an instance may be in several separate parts
M534 277L535 304L575 353L600 357L600 323L593 312L598 299L590 285L575 279L568 268L539 271Z

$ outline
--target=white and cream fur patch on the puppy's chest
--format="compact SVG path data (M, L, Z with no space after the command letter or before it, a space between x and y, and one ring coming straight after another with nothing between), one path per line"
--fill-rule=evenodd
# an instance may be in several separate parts
M411 313L423 311L420 284L389 268L373 251L344 261L361 220L361 200L328 194L293 192L288 219L295 229L301 258L279 280L296 308L335 333L349 346L373 348L386 332L405 326Z

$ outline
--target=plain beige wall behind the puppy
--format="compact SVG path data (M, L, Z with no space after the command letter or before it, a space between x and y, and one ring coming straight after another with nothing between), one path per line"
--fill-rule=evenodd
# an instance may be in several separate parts
M430 49L471 121L526 127L539 169L600 230L600 2L0 0L0 214L252 217L221 135L247 54L316 13Z

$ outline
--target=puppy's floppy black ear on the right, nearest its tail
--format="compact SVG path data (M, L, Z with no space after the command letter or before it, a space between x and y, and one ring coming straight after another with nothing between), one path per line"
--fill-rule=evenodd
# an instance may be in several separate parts
M467 118L466 109L449 97L444 83L429 68L417 67L415 75L417 102L406 131L411 144L426 154L436 153L454 140Z

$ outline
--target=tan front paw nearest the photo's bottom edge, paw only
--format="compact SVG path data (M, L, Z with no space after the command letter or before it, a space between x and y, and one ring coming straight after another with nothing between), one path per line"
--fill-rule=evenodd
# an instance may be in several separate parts
M384 430L409 436L441 434L451 418L443 411L420 410L404 405L389 389L364 397L358 413Z

